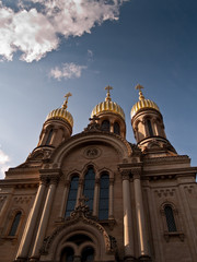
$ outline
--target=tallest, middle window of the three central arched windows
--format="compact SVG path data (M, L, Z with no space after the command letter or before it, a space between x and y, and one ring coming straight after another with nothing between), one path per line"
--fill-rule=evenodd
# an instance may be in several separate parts
M94 169L90 167L88 172L85 174L83 194L89 199L86 204L89 205L91 211L93 210L94 183L95 183L95 172L94 172Z

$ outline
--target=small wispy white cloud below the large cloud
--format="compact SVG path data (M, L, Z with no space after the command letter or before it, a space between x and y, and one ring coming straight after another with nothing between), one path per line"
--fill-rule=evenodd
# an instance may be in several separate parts
M56 67L50 70L50 76L60 81L61 79L78 79L81 76L82 70L86 69L85 66L76 63L63 63L62 68Z

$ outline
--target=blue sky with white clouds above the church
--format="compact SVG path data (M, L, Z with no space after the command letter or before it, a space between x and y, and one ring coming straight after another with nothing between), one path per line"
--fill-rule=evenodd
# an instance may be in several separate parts
M129 142L140 83L170 142L197 165L196 13L195 0L0 1L0 176L36 147L65 94L79 133L108 84Z

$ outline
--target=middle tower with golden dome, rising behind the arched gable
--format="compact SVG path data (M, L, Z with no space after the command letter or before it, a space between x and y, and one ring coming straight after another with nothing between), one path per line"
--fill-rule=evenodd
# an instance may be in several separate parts
M109 92L113 87L108 85L105 90L107 91L105 102L102 102L94 107L91 118L93 118L93 116L99 118L96 122L101 124L103 131L116 133L125 138L126 123L124 110L115 102L112 102Z

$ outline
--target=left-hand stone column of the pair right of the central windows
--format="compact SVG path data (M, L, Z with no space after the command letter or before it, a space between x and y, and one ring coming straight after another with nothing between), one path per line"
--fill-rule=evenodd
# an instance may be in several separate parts
M124 247L125 261L134 260L134 229L131 217L131 199L130 199L130 181L129 171L123 171L123 204L124 204Z

